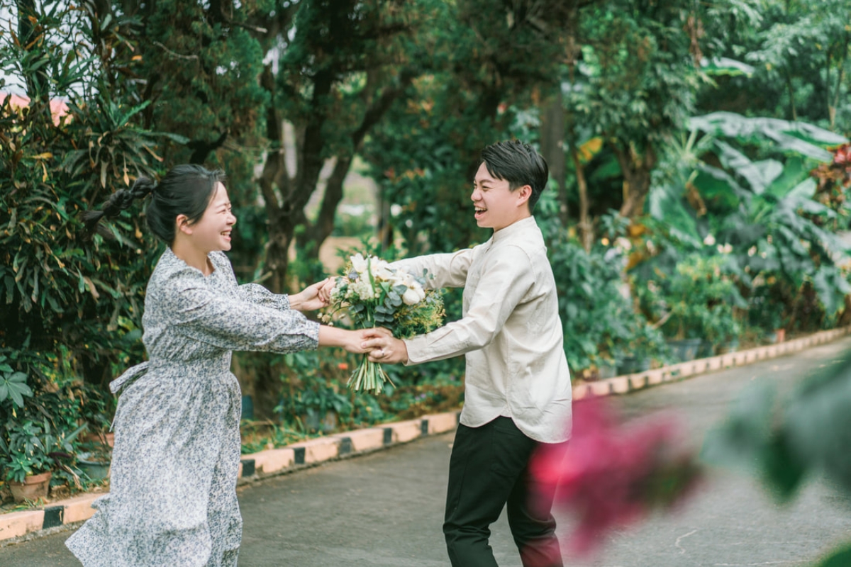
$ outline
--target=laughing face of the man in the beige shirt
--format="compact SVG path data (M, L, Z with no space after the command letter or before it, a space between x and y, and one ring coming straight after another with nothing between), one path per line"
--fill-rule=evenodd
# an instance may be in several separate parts
M528 185L511 191L508 181L496 179L482 162L473 180L470 196L476 207L476 224L496 231L528 217L527 201L531 192L532 188Z

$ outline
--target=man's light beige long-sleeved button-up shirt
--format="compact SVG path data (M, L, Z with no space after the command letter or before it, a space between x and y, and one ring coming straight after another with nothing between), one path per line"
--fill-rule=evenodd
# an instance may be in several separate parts
M474 248L401 260L432 288L464 287L463 318L405 341L408 365L466 355L461 423L499 416L542 443L570 437L571 387L556 282L534 217Z

